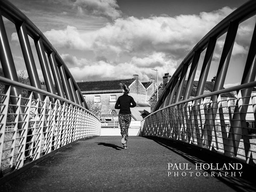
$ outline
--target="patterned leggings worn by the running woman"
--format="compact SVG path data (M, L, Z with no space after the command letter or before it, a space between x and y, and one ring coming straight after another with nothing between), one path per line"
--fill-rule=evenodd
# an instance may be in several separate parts
M128 128L131 123L131 114L119 114L118 120L121 129L121 135L125 140L125 143L123 144L126 144L128 140Z

